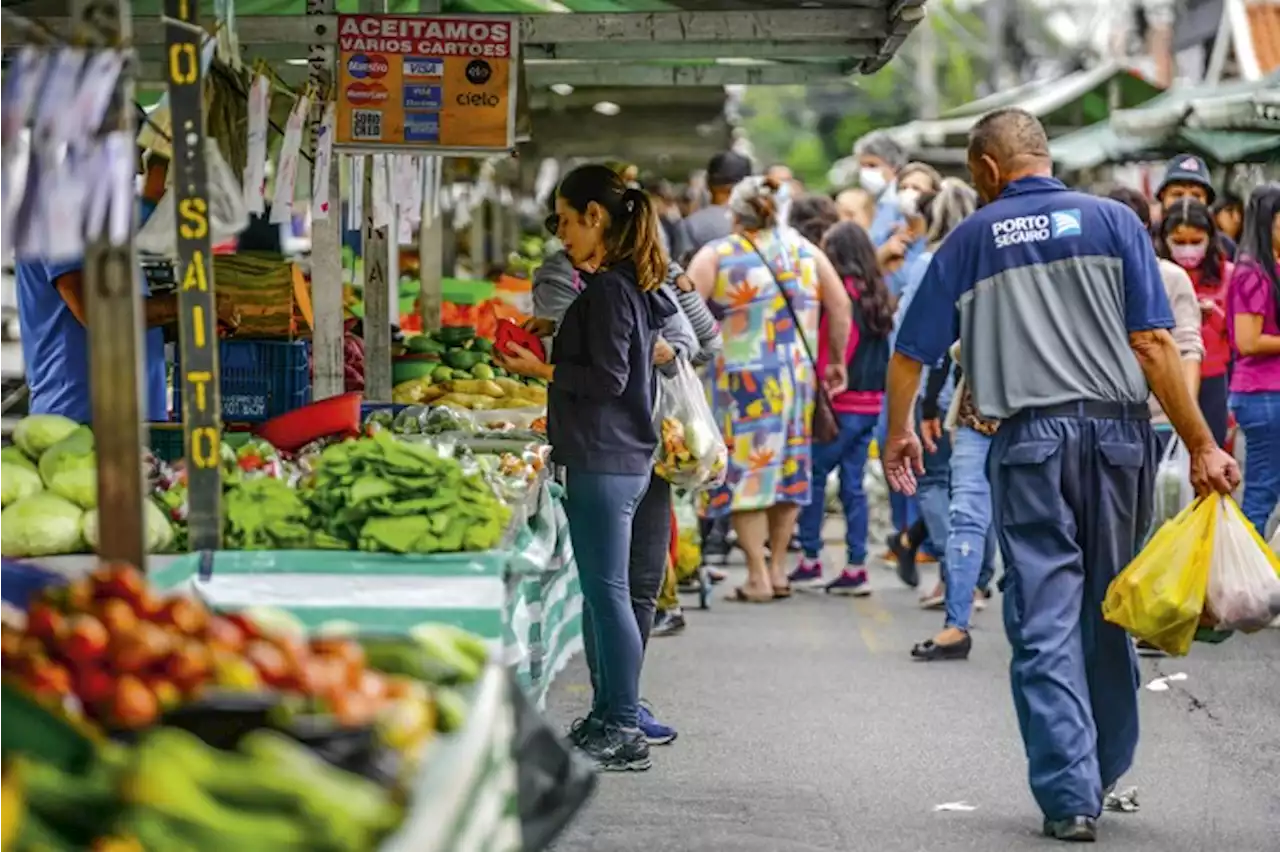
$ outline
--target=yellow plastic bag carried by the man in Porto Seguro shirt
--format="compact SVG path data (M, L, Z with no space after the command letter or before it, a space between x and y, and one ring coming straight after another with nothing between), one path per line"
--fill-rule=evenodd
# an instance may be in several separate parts
M1166 522L1111 581L1102 617L1184 656L1204 610L1217 518L1217 500L1201 499Z

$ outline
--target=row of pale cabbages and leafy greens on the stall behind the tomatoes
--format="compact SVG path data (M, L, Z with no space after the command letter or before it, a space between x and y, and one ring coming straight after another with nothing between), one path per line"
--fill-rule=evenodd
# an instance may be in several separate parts
M0 449L0 556L97 546L93 435L64 418L28 417ZM365 438L284 458L261 439L221 448L223 544L232 550L458 553L495 546L511 522L504 484L485 468L397 434L475 431L466 412L378 412ZM150 553L187 549L187 476L150 459ZM47 490L46 490L47 489Z

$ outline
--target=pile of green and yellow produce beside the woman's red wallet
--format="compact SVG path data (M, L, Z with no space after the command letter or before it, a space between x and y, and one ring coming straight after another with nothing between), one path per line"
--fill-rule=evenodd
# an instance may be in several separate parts
M392 402L472 411L547 406L547 384L509 375L493 359L493 342L470 326L410 338L394 363Z

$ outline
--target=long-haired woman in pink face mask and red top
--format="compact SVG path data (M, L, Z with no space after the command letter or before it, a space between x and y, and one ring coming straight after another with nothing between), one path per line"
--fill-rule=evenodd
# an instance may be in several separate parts
M1196 285L1201 306L1199 407L1219 444L1226 443L1226 371L1231 344L1226 322L1228 281L1231 262L1222 252L1213 215L1199 201L1181 197L1165 207L1156 239L1156 253L1184 270Z

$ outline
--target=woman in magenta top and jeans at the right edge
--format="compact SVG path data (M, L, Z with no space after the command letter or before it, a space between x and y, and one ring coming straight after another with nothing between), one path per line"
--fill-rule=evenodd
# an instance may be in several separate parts
M1235 368L1231 411L1244 432L1244 512L1260 535L1280 500L1280 184L1258 187L1228 293L1228 329Z

